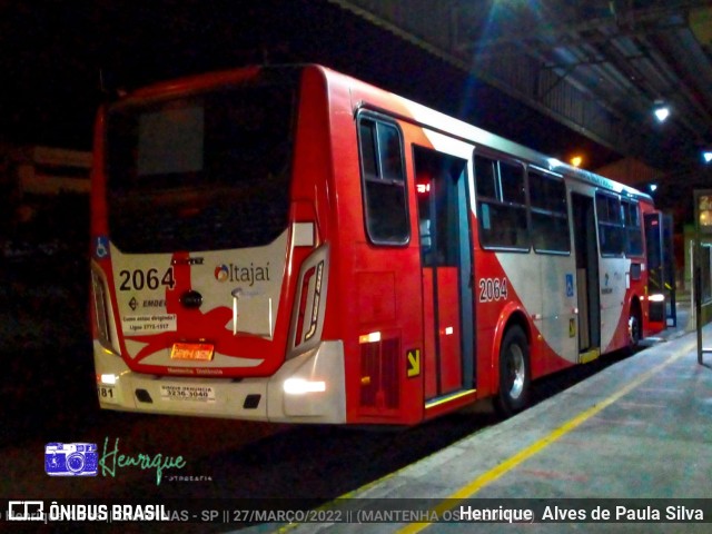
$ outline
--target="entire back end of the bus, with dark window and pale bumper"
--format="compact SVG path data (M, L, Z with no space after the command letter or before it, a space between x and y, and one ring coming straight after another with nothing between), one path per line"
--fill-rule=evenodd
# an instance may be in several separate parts
M300 98L301 72L187 79L100 112L91 285L102 408L345 422L343 349L320 342L328 247L317 202L293 179L314 120L298 123L300 107L326 108L319 91ZM305 392L323 392L319 403Z

